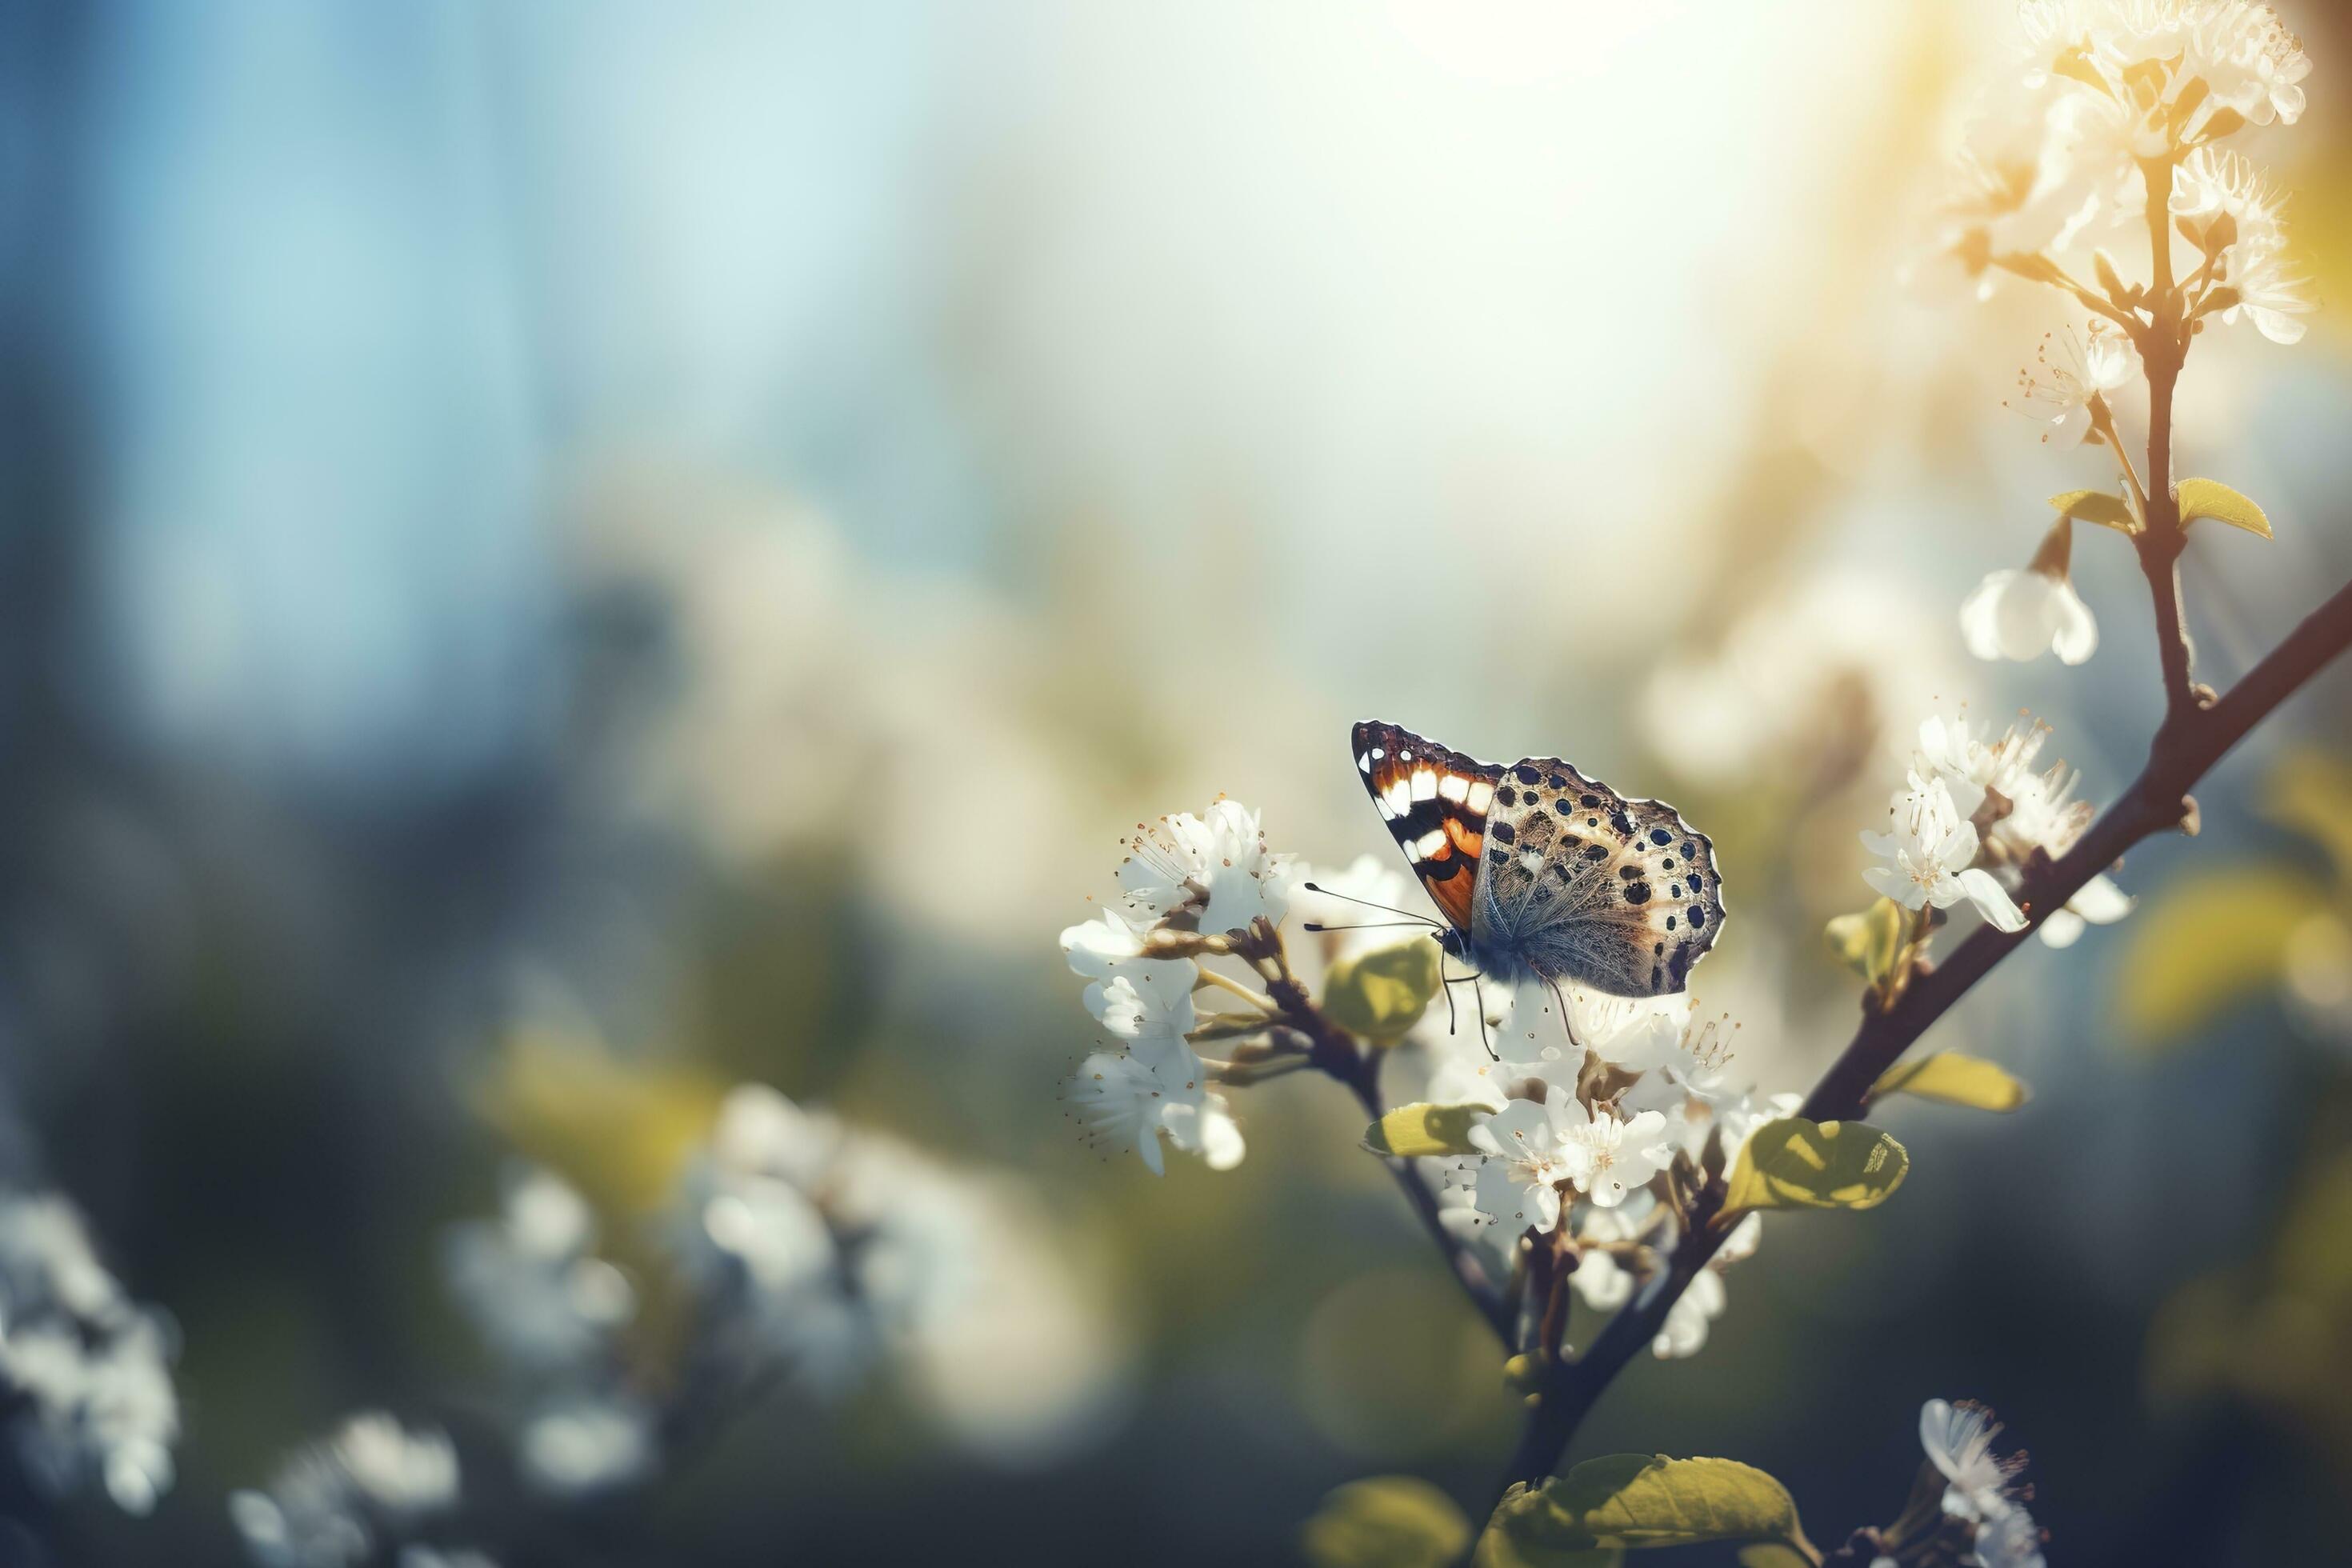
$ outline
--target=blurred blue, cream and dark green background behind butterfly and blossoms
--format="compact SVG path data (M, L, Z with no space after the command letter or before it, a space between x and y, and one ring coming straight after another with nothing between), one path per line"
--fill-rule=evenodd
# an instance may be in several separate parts
M2312 110L2246 150L2324 308L2183 383L2178 470L2277 527L2192 541L2218 686L2352 576L2352 14L2281 12ZM1517 1408L1345 1095L1237 1095L1230 1173L1105 1164L1056 933L1216 792L1390 853L1350 719L1562 752L1717 837L1700 1011L1804 1088L1919 717L2030 705L2129 783L2119 541L2089 665L1955 623L2107 482L1999 407L2056 296L1903 284L2006 19L0 7L0 1175L169 1316L183 1425L151 1516L19 1483L9 1549L245 1561L228 1493L358 1408L477 1490L452 1227L534 1161L654 1300L739 1081L1035 1258L976 1349L783 1387L501 1559L1272 1563L1359 1474L1477 1500ZM1835 1542L1983 1399L2053 1563L2336 1556L2347 712L2305 691L2126 924L1945 1020L2032 1105L1889 1107L1900 1213L1771 1227L1581 1450L1762 1465Z

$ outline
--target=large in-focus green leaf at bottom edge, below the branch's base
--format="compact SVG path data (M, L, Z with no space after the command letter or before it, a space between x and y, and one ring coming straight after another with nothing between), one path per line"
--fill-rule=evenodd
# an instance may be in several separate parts
M1684 1547L1705 1540L1780 1542L1818 1563L1788 1488L1736 1460L1611 1453L1536 1488L1512 1486L1489 1540L1517 1556L1562 1563L1595 1547Z

